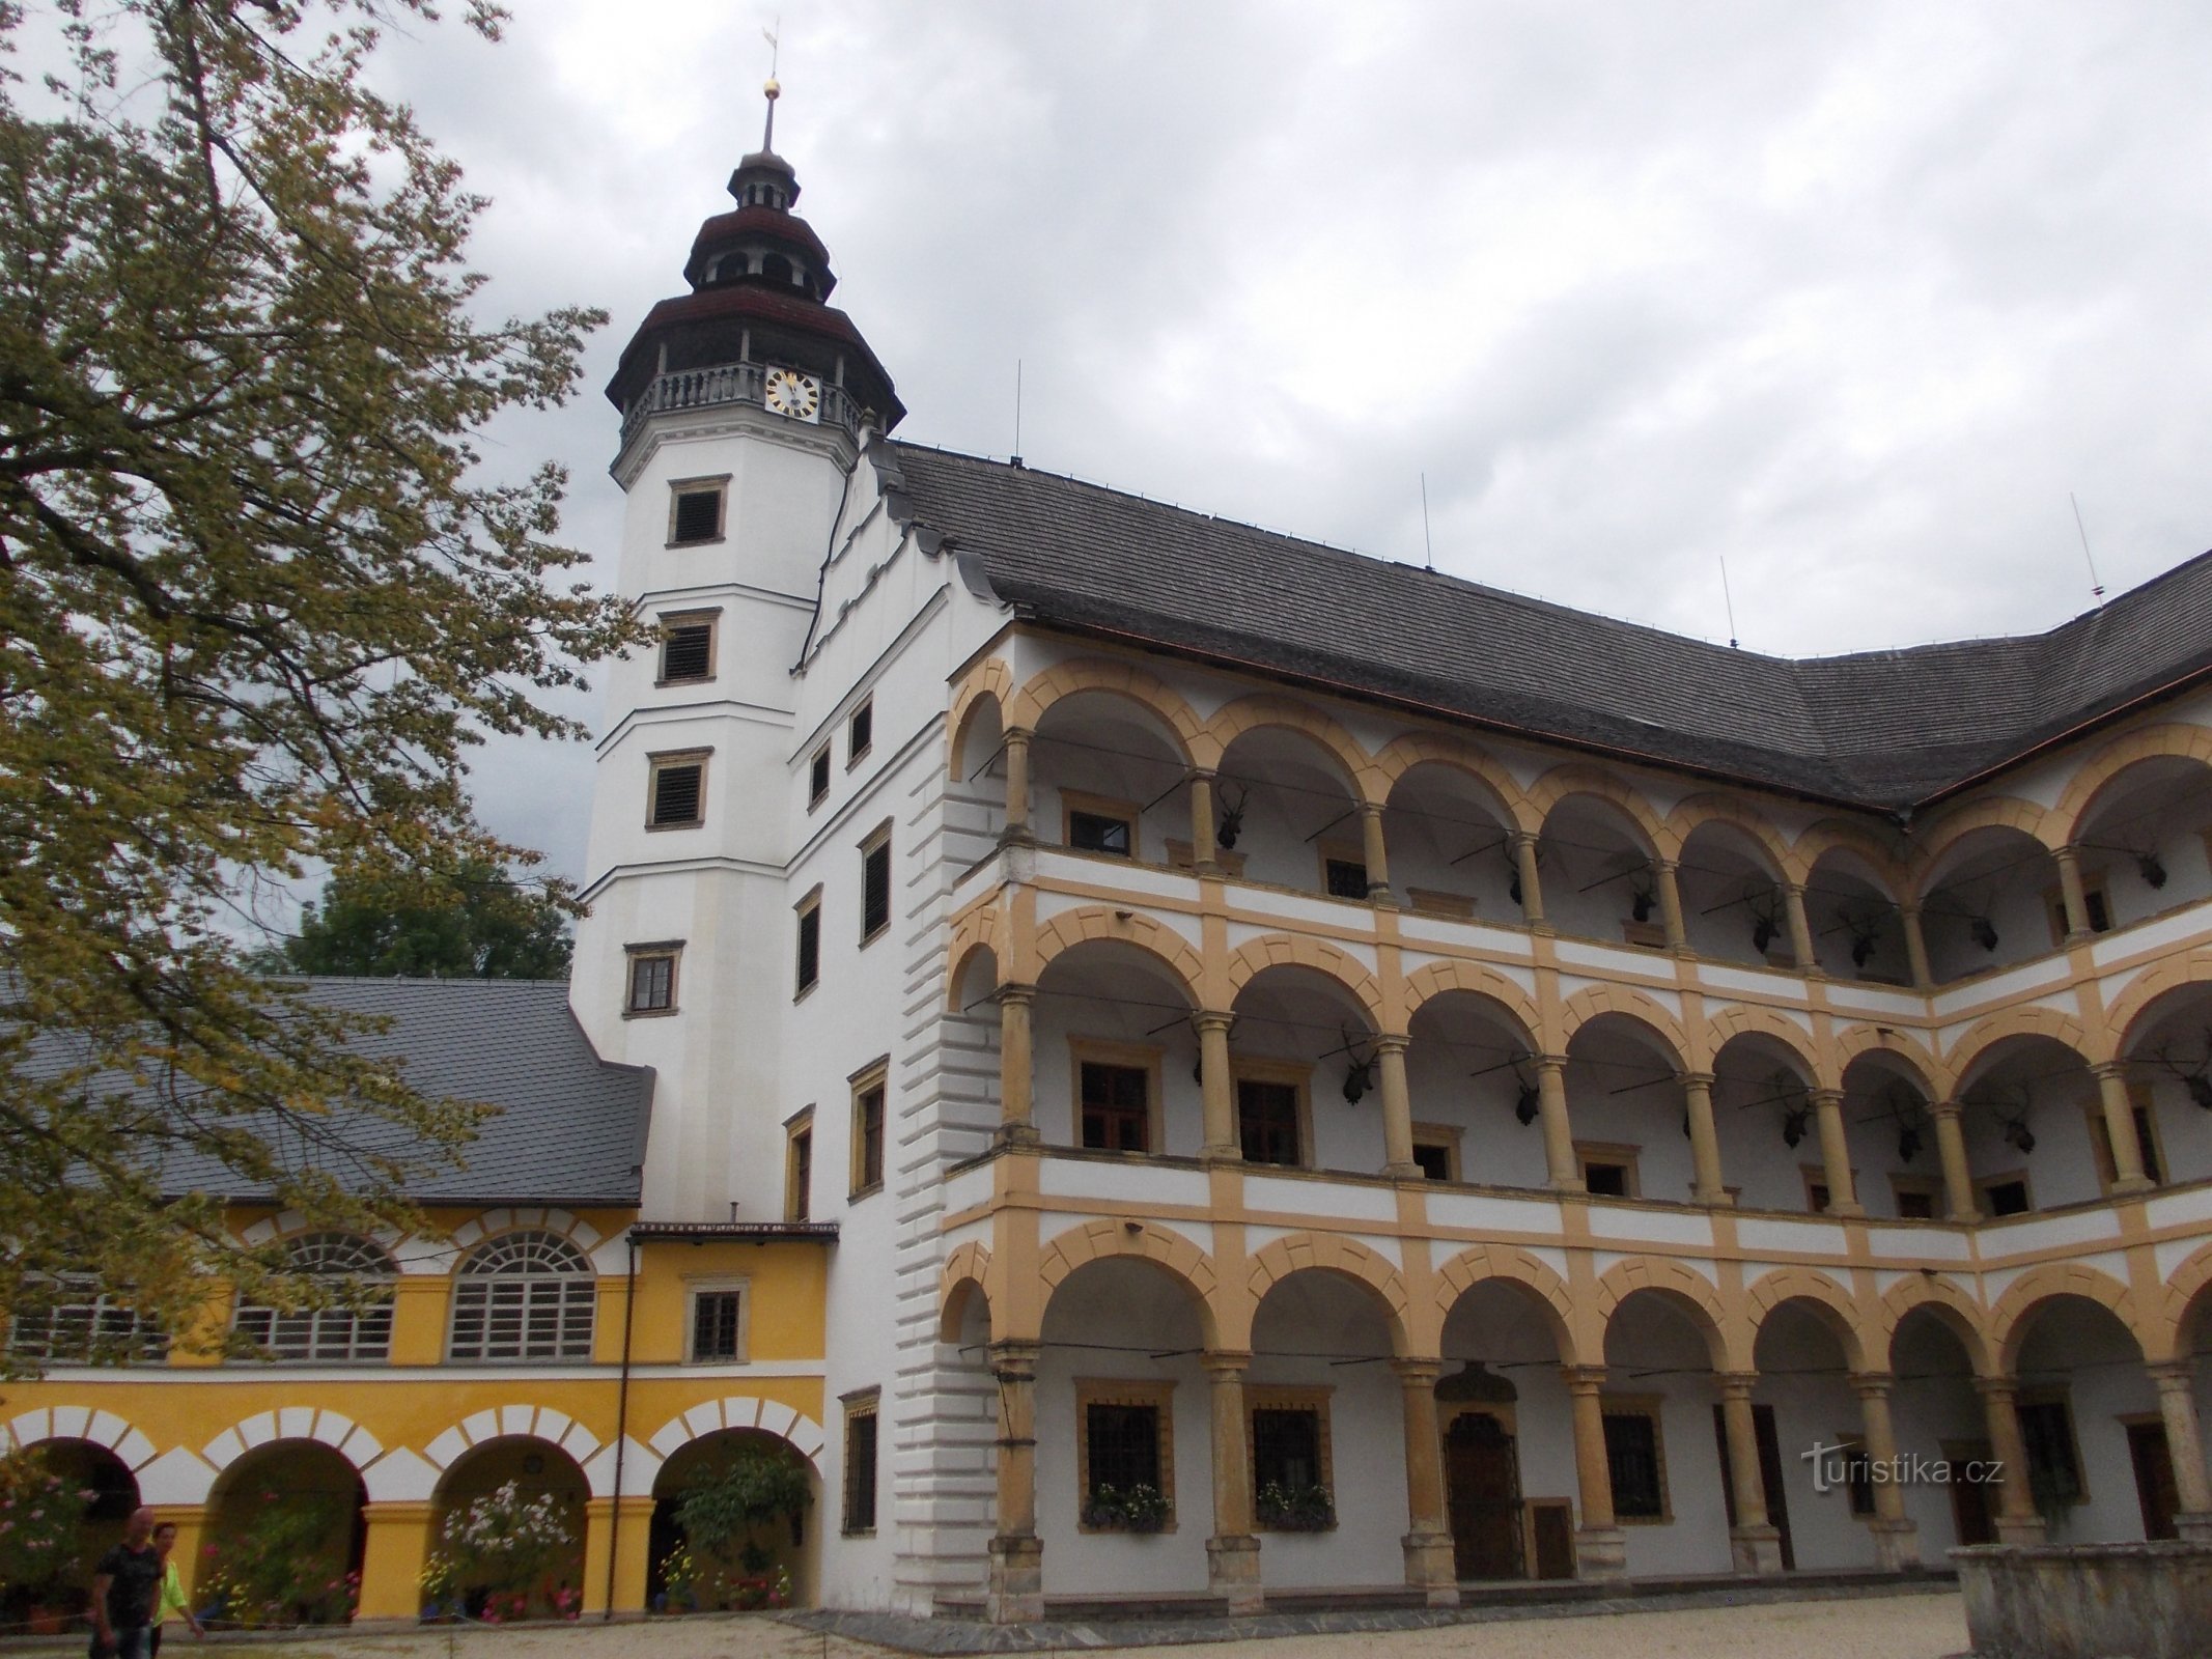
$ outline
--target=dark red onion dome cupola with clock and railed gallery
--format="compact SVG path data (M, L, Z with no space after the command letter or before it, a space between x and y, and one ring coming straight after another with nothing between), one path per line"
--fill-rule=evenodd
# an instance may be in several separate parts
M661 409L757 403L770 414L858 434L889 431L907 414L891 376L845 312L830 305L830 250L792 212L799 175L776 155L774 80L761 148L730 175L734 212L692 237L684 281L637 325L606 385L622 409L624 445Z

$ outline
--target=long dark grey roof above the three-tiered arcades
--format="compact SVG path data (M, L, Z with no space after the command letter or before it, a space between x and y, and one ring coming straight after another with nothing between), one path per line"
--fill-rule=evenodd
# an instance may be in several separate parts
M1905 810L2212 668L2212 553L2044 635L1785 659L1011 462L878 451L1018 615L1858 807Z

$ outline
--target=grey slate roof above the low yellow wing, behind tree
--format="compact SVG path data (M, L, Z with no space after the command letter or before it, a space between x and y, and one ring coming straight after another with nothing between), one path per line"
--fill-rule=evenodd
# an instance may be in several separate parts
M467 1168L409 1186L418 1203L637 1206L653 1073L599 1060L568 1011L566 980L314 978L307 987L325 1006L392 1018L387 1031L356 1037L356 1053L400 1055L420 1093L502 1108L467 1148ZM387 1137L378 1150L405 1155L405 1144ZM215 1164L179 1159L161 1183L228 1192L234 1181Z

